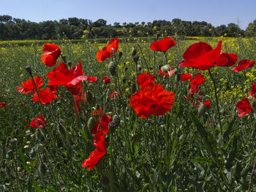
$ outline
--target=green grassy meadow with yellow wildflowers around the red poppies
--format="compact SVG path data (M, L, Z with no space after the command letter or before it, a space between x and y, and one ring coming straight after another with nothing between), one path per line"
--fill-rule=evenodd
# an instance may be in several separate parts
M256 191L256 113L237 111L245 98L256 110L256 95L249 94L256 68L231 70L243 59L256 59L256 39L172 38L176 45L165 54L150 49L156 37L120 39L113 57L103 62L96 55L110 39L0 42L0 191ZM189 46L206 42L215 49L219 41L221 53L238 55L233 66L179 66ZM52 67L41 60L47 42L61 50ZM19 93L16 87L36 76L49 88L45 74L61 62L68 69L81 62L86 78L97 80L83 76L76 95L58 84L47 104L31 100L33 93ZM198 73L203 80L195 85ZM149 77L146 88L141 74ZM190 79L181 80L183 74ZM105 76L109 83L102 81ZM138 96L153 84L164 88L162 97L173 94L174 102L165 105L157 94ZM35 87L38 95L42 88ZM159 100L149 112L154 99ZM32 127L39 115L44 119ZM98 147L104 155L88 165L92 151L102 152Z

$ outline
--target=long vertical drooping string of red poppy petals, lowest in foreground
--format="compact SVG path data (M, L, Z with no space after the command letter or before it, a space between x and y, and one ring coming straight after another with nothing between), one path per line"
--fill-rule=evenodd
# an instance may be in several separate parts
M95 134L94 136L94 147L96 148L91 152L89 157L83 161L82 167L85 168L88 166L89 170L93 169L99 159L101 159L106 153L106 145L105 142L105 134L108 133L108 123L112 121L110 116L102 115L99 120L97 120L94 128L91 130L91 134Z

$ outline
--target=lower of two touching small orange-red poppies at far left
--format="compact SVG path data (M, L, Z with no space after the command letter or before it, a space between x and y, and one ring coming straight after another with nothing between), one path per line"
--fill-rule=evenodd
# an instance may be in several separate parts
M42 88L38 91L40 96L40 101L42 104L50 104L53 100L57 98L56 93L50 90L50 88ZM37 93L34 93L33 101L39 103L39 97Z

